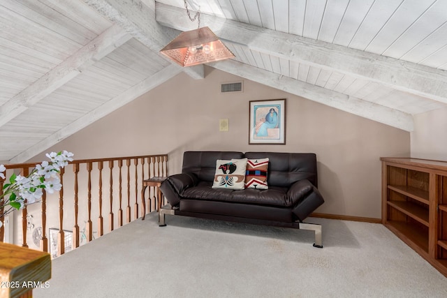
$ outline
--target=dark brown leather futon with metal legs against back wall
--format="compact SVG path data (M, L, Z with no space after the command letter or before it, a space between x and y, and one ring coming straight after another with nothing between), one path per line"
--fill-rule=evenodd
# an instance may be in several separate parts
M217 161L242 158L268 158L268 188L213 188ZM171 214L314 230L321 248L321 225L303 222L324 202L317 186L316 154L186 151L182 173L161 184L169 205L160 209L159 224Z

